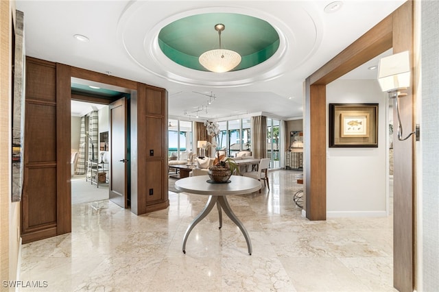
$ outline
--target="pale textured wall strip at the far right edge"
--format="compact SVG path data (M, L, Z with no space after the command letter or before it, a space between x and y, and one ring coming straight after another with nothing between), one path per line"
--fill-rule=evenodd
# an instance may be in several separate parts
M422 47L418 62L422 62L422 104L418 101L417 122L420 123L420 143L417 163L416 247L420 254L417 262L417 290L438 291L439 287L439 2L421 1L420 25L422 26ZM419 155L422 152L422 156ZM422 256L422 258L420 258Z

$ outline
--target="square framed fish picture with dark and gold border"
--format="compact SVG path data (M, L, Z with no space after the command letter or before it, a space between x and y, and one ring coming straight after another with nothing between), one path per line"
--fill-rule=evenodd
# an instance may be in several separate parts
M378 147L378 104L329 104L329 147Z

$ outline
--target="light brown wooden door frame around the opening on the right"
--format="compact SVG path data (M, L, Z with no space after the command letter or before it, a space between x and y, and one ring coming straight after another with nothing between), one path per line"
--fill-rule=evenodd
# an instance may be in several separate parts
M393 48L394 53L410 51L412 87L401 106L406 129L414 128L416 84L414 83L414 3L407 1L372 27L305 81L305 192L306 216L326 220L326 86L342 75ZM414 287L414 197L415 141L394 139L394 287Z

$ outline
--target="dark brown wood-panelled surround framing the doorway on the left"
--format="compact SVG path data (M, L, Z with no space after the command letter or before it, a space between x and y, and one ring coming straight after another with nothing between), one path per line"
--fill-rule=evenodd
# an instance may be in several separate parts
M29 95L34 95L34 103L51 110L51 115L47 114L45 110L27 111L26 115L29 114L29 117L36 121L40 117L43 118L46 123L50 123L51 131L38 129L38 124L34 123L33 125L38 130L42 130L43 134L29 136L29 133L35 132L25 131L28 133L25 143L39 143L38 147L34 148L38 150L36 154L33 154L35 157L32 156L32 159L38 163L32 163L31 166L32 169L43 174L45 171L47 172L48 168L51 168L51 173L45 175L45 178L52 184L50 189L43 193L40 191L43 182L39 180L38 175L25 175L26 191L21 204L21 238L23 243L71 232L72 78L126 88L129 91L131 95L130 122L136 125L130 129L131 141L134 141L131 143L130 155L132 159L130 160L135 162L134 173L137 174L130 178L132 186L130 191L135 193L135 196L131 196L131 202L134 203L131 205L131 212L141 215L167 208L169 206L167 156L165 156L167 153L167 135L165 135L167 132L167 90L29 56L26 57L26 64L26 78L29 79L27 92L29 91ZM75 99L77 96L73 95L73 98ZM29 101L32 99L29 98L27 102ZM134 101L135 104L133 104ZM156 119L155 127L148 127L148 121L145 123L147 116ZM157 124L156 121L159 123ZM136 140L137 137L142 139L141 143ZM43 142L42 138L44 138ZM153 141L154 143L145 144L145 141ZM50 156L40 158L41 153L43 153L40 149L45 149L45 147L50 149ZM145 157L146 147L149 152L156 155L151 158ZM29 155L31 155L29 151L25 152L25 159L29 158L27 157ZM145 171L149 167L148 160L154 160L154 167L158 171L154 172L154 180L147 181L144 178ZM132 165L133 163L131 163ZM29 168L29 165L27 167ZM131 173L133 172L131 171ZM156 190L154 195L145 192L150 188ZM38 198L46 199L49 204ZM31 204L34 204L34 208L27 208ZM33 221L32 226L27 228L26 224L29 223L29 218Z

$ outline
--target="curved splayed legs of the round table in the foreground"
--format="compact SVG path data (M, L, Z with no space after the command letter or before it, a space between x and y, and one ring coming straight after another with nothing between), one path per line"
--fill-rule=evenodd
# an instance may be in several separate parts
M250 242L250 236L248 236L248 232L247 232L246 228L244 228L244 225L241 223L241 221L239 221L239 219L236 217L235 213L230 208L230 205L227 202L226 196L215 196L215 195L209 196L209 199L207 200L206 206L204 206L204 209L202 210L202 212L200 212L200 214L195 219L193 219L191 225L189 225L189 227L187 228L187 230L185 232L185 237L183 238L183 247L182 247L183 253L186 254L186 241L187 241L187 238L189 237L189 233L191 233L193 228L200 221L202 221L202 219L204 219L204 217L206 217L209 214L209 212L211 212L211 210L213 209L213 206L215 206L215 204L217 204L218 215L219 215L219 229L222 228L222 212L221 212L221 209L222 209L222 210L224 210L226 215L230 218L230 220L232 220L238 226L238 228L241 230L242 234L244 234L244 238L246 239L246 243L247 243L247 247L248 247L248 254L250 254L250 256L251 256L252 255L252 243Z

